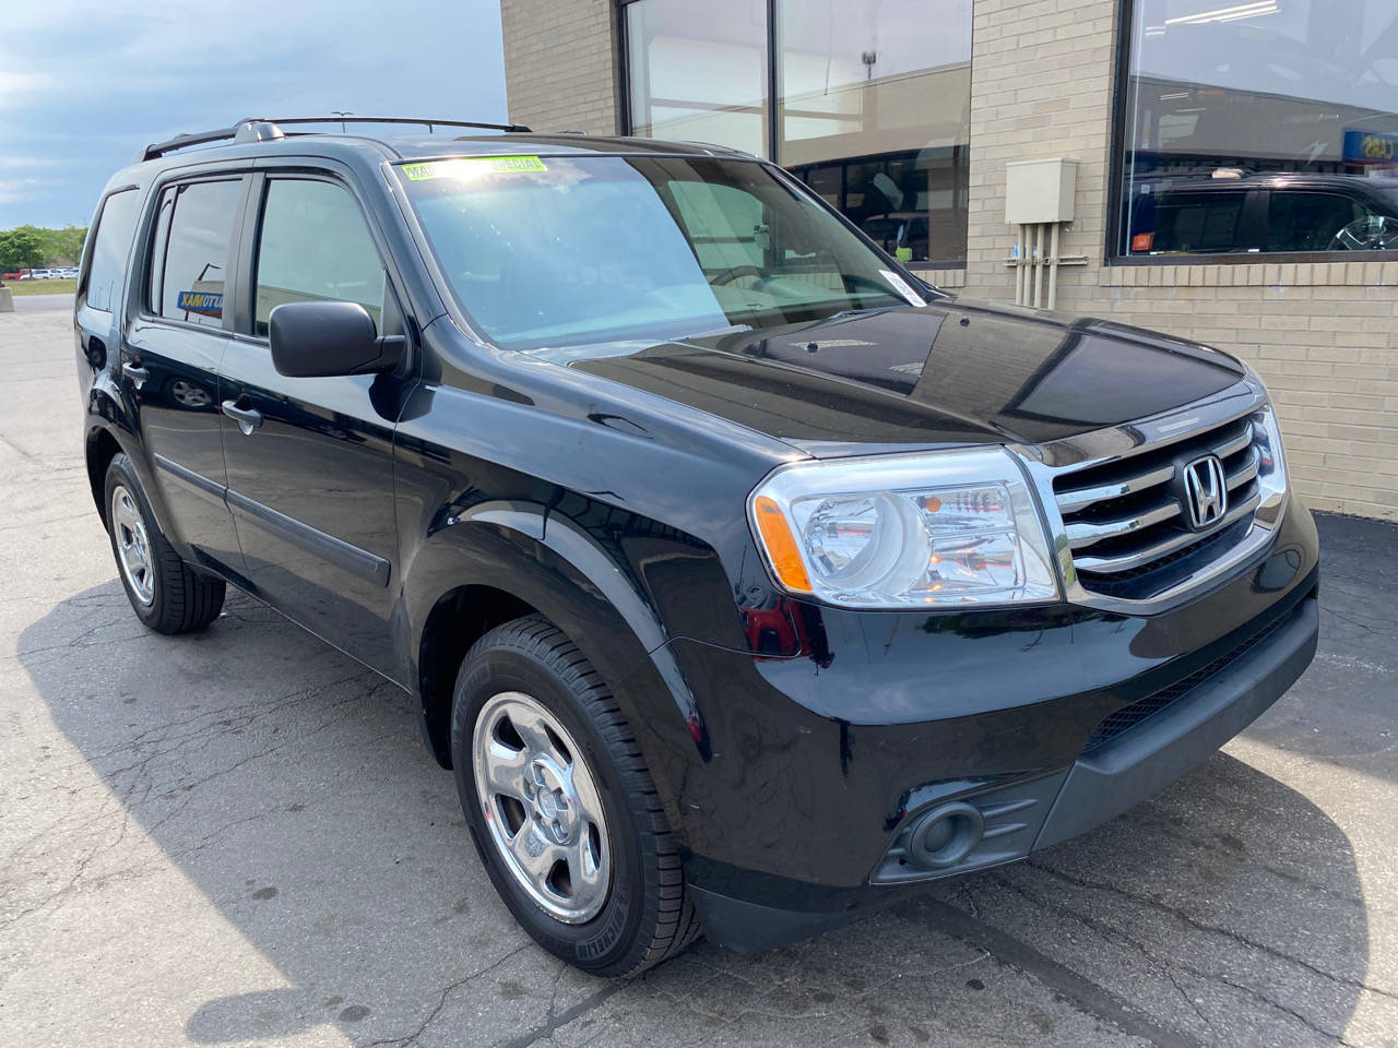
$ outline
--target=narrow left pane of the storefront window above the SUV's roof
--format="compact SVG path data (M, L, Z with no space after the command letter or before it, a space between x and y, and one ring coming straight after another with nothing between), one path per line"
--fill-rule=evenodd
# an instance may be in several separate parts
M769 155L766 0L639 0L625 17L632 134Z

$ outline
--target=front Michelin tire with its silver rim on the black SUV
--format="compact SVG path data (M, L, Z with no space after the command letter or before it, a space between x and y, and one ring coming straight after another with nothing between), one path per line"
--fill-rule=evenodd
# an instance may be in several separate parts
M541 615L478 640L457 675L452 763L485 871L544 949L643 971L699 935L654 783L601 678Z

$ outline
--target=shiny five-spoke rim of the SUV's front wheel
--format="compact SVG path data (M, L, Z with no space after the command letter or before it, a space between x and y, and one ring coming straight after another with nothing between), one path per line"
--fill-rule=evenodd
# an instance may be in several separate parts
M471 752L505 868L559 921L590 921L611 890L611 843L582 749L541 703L502 692L477 717Z

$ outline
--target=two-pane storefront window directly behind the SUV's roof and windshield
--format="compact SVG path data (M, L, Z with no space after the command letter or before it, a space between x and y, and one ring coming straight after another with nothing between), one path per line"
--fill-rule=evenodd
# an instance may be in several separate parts
M889 254L962 264L972 0L779 0L774 56L766 10L628 4L632 134L776 159Z

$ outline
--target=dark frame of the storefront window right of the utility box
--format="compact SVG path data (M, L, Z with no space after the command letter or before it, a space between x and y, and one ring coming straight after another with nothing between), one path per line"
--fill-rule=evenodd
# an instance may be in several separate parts
M1111 143L1107 163L1107 222L1104 229L1104 265L1288 265L1293 263L1391 263L1394 252L1230 252L1219 254L1120 254L1121 226L1125 221L1127 122L1131 110L1131 28L1135 25L1138 0L1117 1L1116 70L1113 71Z

